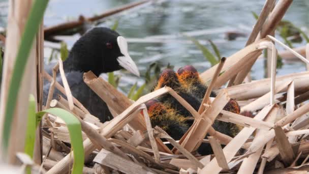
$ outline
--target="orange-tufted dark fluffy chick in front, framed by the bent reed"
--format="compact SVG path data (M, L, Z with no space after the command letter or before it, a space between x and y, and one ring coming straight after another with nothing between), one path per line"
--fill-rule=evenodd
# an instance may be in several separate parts
M164 106L159 100L152 99L145 103L152 127L159 126L175 140L179 140L189 129L186 118L174 109Z

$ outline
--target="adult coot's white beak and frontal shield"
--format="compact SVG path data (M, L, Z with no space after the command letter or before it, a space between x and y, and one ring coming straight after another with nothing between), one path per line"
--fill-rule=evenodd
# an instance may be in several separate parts
M130 71L131 73L139 76L138 68L128 53L127 40L123 38L122 36L118 36L117 43L120 48L120 52L123 54L123 56L117 57L117 61L119 62L119 65L125 68L126 70Z

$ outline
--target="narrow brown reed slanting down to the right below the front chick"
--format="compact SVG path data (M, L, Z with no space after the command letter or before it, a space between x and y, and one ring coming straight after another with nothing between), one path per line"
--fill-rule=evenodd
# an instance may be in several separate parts
M177 143L172 137L170 137L164 130L162 130L160 127L156 126L156 130L160 132L161 138L166 138L173 146L176 148L181 154L186 156L196 167L203 168L204 165L196 159L189 151L184 149L182 146L180 146L179 143Z

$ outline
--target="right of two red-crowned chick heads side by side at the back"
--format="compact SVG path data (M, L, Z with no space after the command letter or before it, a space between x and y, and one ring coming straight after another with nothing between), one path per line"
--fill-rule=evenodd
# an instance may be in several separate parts
M180 82L184 84L191 84L193 82L200 82L199 73L192 65L181 67L177 71Z

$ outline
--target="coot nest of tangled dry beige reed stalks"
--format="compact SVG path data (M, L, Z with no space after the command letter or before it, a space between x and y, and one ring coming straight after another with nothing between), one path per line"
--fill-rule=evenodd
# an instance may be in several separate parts
M259 31L261 38L271 33L271 24L279 23L289 6L280 1L265 22L263 16L268 15L272 6L269 2L262 10L248 46L200 74L209 85L198 111L167 86L132 103L92 72L84 74L84 82L107 103L114 119L100 123L77 100L68 102L59 97L47 102L79 118L86 154L84 173L302 173L309 170L309 118L306 115L309 104L302 103L309 99L309 72L276 77L276 49L271 43L276 40L268 36L253 42ZM260 30L262 25L263 31ZM272 64L267 67L270 78L241 84L265 48L272 51L269 57ZM57 88L66 94L55 78L44 76L53 81L51 89ZM221 88L228 81L228 87ZM209 98L211 90L218 94L214 99ZM152 127L144 105L166 93L181 103L195 120L180 140L173 139L160 127ZM231 98L237 100L241 111L250 117L223 110ZM77 107L69 109L73 101ZM243 128L235 137L230 137L215 131L214 121ZM73 158L70 158L70 138L65 123L49 114L44 124L49 129L43 132L43 166L51 173L69 171ZM204 139L207 134L208 139ZM201 143L210 143L213 154L196 154ZM171 144L173 149L166 144Z

